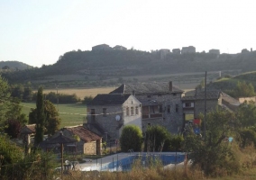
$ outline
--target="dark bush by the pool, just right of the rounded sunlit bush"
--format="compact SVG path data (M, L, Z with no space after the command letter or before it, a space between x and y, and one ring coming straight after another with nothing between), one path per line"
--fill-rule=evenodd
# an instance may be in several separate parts
M144 150L148 152L161 152L168 139L170 139L170 133L165 127L160 125L150 126L145 132Z

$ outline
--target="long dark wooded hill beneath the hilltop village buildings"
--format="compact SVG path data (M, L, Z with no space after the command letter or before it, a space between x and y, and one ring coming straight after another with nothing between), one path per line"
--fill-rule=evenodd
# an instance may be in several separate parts
M114 85L123 81L140 81L139 76L149 76L144 80L150 80L154 76L175 73L222 71L225 75L237 75L241 72L253 71L255 67L256 51L219 56L204 52L183 55L169 53L165 58L160 58L158 52L134 49L73 50L60 56L53 65L4 72L2 76L5 76L10 83L31 81L34 84L74 85L75 82L75 85L95 86ZM215 80L216 77L213 76L211 80ZM186 76L181 79L189 78L195 78L195 76Z

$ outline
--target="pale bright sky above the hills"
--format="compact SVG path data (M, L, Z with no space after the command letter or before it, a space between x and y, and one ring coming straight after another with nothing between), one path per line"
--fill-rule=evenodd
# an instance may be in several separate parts
M0 61L51 65L98 44L256 49L254 0L0 0Z

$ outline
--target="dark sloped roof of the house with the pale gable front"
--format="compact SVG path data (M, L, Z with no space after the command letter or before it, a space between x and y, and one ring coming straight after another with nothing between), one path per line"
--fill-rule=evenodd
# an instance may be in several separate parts
M118 105L123 104L131 94L97 94L89 105Z

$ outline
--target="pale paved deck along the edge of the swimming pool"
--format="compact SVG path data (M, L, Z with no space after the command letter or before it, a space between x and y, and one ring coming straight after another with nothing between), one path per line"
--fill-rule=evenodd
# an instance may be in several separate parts
M79 164L78 168L81 171L94 171L94 170L98 170L102 166L108 165L109 163L122 160L123 158L126 158L126 157L138 156L138 155L139 156L154 156L154 155L156 155L156 156L158 156L158 155L175 156L176 152L150 152L150 153L146 153L146 152L141 152L141 153L140 152L132 152L132 153L118 153L118 154L114 154L114 155L110 155L110 156L102 157L102 158L98 158L98 159L86 159L87 162ZM177 152L177 156L178 155L185 155L185 153ZM179 163L179 164L182 164L182 163ZM175 164L170 164L167 167L171 167L171 166L175 166ZM112 171L114 171L114 168L112 168Z

